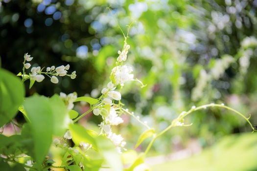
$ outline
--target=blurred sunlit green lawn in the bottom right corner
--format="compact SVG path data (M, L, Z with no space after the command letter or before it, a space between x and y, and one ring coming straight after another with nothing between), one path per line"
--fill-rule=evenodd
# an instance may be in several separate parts
M257 134L222 138L213 147L187 159L154 165L152 171L257 171Z

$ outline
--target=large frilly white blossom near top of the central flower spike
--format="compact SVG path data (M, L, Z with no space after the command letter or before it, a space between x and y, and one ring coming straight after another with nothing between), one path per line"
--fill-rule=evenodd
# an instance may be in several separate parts
M126 81L133 80L134 75L130 74L133 71L131 66L122 65L116 66L112 69L111 77L113 77L113 82L115 84L122 84Z

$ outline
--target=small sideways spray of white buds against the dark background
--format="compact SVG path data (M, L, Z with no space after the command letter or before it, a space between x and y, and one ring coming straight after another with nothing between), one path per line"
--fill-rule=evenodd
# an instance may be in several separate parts
M27 79L31 79L31 80L35 80L37 82L42 82L45 79L45 75L47 75L50 78L50 81L54 84L57 84L59 82L58 78L56 76L69 76L71 79L75 79L76 78L76 71L73 71L71 74L67 74L68 70L70 69L70 64L67 64L66 66L61 65L55 68L55 66L51 66L51 67L47 67L46 72L43 72L43 68L41 68L40 66L38 67L32 67L29 75L25 74L25 69L29 69L31 64L30 63L26 63L26 62L30 62L32 61L33 57L30 57L30 55L28 55L28 53L24 54L24 62L23 62L23 74L21 74L23 76L23 81L27 80ZM24 76L27 76L26 78L24 78Z

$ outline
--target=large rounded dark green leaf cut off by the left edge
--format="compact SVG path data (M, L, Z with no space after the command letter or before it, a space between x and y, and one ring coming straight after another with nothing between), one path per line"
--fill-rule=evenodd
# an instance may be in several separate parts
M0 127L15 117L24 94L21 80L11 72L0 69Z

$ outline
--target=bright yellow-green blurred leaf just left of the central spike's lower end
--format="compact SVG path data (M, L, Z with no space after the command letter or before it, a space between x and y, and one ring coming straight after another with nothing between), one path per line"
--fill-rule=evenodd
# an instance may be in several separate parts
M72 135L72 140L76 145L79 145L80 142L92 144L94 149L97 149L95 142L95 135L92 131L85 129L84 127L74 124L70 125L70 132Z

